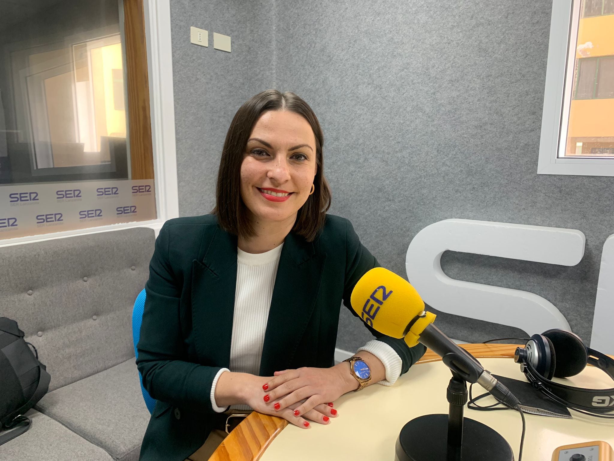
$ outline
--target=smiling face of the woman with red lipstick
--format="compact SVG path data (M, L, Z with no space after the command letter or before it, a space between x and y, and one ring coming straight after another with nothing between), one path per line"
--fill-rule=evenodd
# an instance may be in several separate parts
M309 197L316 170L309 122L295 112L264 112L241 164L241 198L252 222L293 221Z

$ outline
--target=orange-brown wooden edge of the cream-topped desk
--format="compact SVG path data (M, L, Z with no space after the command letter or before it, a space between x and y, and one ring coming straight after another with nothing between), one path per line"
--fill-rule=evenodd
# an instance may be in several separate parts
M475 358L513 358L517 344L459 344ZM415 364L441 360L427 349ZM252 412L217 447L209 461L258 461L273 439L288 425L285 419Z

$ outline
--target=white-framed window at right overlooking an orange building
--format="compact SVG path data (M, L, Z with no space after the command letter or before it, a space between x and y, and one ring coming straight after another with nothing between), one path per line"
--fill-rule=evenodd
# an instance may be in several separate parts
M537 170L614 176L614 0L553 2Z

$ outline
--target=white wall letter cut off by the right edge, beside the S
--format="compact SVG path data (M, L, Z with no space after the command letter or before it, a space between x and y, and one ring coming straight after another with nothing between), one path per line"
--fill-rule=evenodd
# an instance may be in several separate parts
M593 333L591 347L600 352L614 354L614 235L605 240L604 251L601 253L599 283L597 283L597 299L595 301L595 317L593 317Z

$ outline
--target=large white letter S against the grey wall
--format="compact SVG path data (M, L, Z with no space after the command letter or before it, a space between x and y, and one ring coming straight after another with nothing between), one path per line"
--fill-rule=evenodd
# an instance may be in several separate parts
M405 267L424 302L441 312L514 326L529 335L550 328L570 330L562 313L537 294L448 277L441 270L441 254L451 250L575 266L584 256L585 240L575 229L445 219L416 234Z

